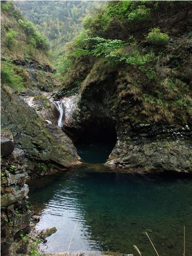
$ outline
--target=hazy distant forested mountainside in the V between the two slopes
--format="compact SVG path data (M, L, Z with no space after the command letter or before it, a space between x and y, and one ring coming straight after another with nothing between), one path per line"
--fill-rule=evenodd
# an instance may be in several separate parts
M83 18L103 5L104 1L15 1L29 21L51 43L52 59L64 54L65 43L78 35ZM57 60L58 62L58 60ZM56 65L57 65L56 62Z

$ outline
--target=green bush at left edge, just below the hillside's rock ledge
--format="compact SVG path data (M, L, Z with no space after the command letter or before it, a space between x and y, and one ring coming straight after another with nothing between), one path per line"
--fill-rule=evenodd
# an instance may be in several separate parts
M1 61L1 83L15 89L22 90L24 87L23 78L19 67L11 61Z

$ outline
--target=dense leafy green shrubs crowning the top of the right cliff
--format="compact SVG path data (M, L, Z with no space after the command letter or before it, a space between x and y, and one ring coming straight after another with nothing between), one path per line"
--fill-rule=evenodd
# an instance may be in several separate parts
M147 1L107 1L95 16L86 17L83 25L92 37L127 38L129 32L150 24L151 9ZM126 31L126 33L125 33Z

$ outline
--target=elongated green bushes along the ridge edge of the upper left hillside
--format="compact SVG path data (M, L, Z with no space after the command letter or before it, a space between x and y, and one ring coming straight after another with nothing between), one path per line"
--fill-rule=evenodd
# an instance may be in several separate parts
M31 44L34 48L48 50L46 37L37 31L35 25L31 21L18 20L18 23L25 31L29 44Z

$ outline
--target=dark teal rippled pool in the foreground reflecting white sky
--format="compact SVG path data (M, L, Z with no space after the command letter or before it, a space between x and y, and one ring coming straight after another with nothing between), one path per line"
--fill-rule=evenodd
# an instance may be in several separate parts
M102 169L102 165L101 165ZM97 167L99 170L99 167ZM114 251L155 256L192 255L192 180L95 172L84 165L30 182L29 197L39 214L36 229L55 226L45 252Z

